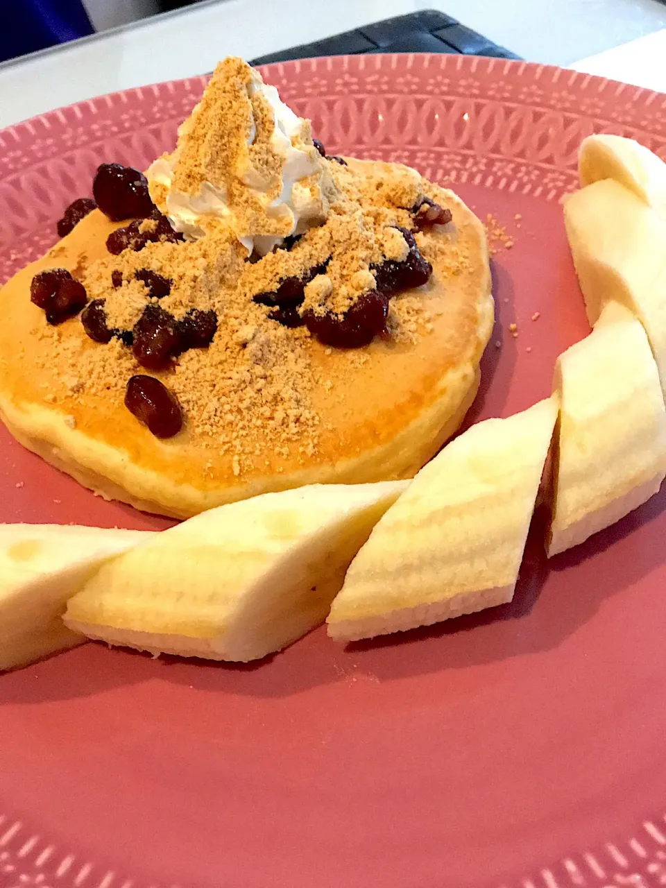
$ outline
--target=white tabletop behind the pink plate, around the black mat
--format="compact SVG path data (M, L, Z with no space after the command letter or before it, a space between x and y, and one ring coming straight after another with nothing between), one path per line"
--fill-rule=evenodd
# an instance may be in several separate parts
M229 54L252 59L432 8L525 59L666 91L666 5L656 0L209 0L0 65L0 128L106 92L203 74Z

